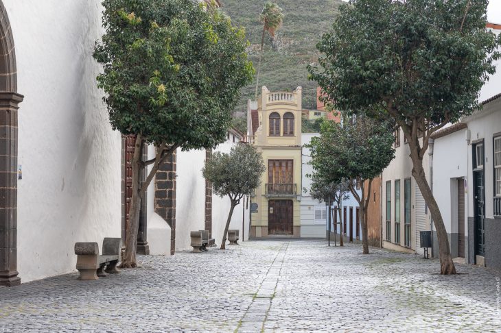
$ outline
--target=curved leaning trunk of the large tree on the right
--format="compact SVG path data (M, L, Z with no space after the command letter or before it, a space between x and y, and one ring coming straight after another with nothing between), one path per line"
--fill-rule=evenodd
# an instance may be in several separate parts
M412 147L411 147L412 151ZM436 237L439 240L439 258L440 258L440 273L443 275L456 274L456 267L452 261L450 254L449 239L447 238L447 230L443 223L442 214L440 213L439 205L436 204L432 190L426 180L426 175L423 169L423 159L411 152L412 160L412 177L416 180L419 190L423 195L423 199L428 205L428 209L432 214L433 223L436 229Z

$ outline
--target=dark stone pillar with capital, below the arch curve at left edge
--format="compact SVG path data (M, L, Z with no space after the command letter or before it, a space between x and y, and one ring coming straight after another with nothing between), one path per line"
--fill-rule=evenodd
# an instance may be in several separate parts
M17 110L23 96L0 92L0 285L21 284L17 272Z

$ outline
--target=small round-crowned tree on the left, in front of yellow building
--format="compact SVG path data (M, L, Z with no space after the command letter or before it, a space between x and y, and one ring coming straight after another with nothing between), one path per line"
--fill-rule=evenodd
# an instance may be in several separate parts
M235 206L240 204L244 195L250 195L261 184L261 174L265 170L261 153L243 143L232 147L230 153L216 152L205 161L202 173L212 183L214 193L220 197L227 195L231 201L221 249L226 248L226 236Z

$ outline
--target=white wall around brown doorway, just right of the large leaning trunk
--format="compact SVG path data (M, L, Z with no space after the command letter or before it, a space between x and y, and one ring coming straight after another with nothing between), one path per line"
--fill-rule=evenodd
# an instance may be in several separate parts
M434 140L433 149L433 195L439 204L447 233L457 233L458 178L467 175L466 129ZM465 225L467 226L467 201L465 200ZM465 227L465 235L468 228Z

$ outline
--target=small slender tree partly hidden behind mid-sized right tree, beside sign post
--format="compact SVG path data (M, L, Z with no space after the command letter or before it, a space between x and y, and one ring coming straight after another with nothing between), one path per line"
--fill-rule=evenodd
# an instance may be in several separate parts
M339 221L341 221L342 200L349 199L349 180L342 179L340 182L329 182L318 173L307 175L307 177L310 177L312 180L312 186L310 188L310 195L312 195L312 198L318 200L318 202L322 202L325 201L326 198L330 197L338 207ZM331 214L331 212L329 212L329 214ZM344 246L342 239L342 223L340 223L339 232L341 235L340 246Z

